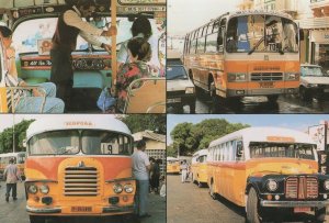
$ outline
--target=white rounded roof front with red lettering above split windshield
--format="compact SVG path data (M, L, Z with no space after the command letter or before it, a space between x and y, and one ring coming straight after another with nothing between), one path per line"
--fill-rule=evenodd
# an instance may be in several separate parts
M57 130L105 130L132 135L122 121L106 114L70 114L45 116L33 122L26 131L26 140L33 135Z

